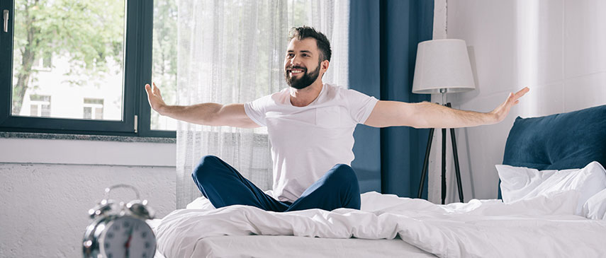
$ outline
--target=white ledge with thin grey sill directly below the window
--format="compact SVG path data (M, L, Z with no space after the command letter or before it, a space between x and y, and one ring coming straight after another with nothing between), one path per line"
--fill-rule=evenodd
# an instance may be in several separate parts
M0 132L0 163L175 167L176 139Z

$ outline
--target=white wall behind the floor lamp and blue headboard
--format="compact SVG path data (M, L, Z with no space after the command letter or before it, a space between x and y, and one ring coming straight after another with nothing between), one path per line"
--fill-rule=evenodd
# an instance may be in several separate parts
M500 124L457 129L465 201L497 197L494 165L503 162L515 117L537 117L606 104L606 1L436 1L447 38L466 40L476 90L449 95L462 110L488 112L507 94L530 87ZM443 14L442 14L443 16ZM434 33L436 35L436 33ZM439 33L437 34L439 35ZM441 96L432 96L441 102ZM437 134L439 136L439 134ZM439 202L440 147L434 137L430 200ZM439 137L438 137L439 140ZM447 145L451 157L451 146ZM458 201L449 158L447 202Z

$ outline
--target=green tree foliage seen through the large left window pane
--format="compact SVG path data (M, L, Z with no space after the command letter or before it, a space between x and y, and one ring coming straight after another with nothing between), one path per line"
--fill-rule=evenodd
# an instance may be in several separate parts
M13 114L40 57L66 56L73 74L108 71L107 59L123 61L125 2L118 0L16 0Z

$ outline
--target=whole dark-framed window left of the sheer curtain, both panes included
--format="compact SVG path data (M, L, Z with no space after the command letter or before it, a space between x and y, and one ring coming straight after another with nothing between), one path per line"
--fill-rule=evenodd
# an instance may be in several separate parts
M0 131L174 137L176 0L0 1ZM52 101L51 101L52 100ZM52 105L51 105L52 102Z

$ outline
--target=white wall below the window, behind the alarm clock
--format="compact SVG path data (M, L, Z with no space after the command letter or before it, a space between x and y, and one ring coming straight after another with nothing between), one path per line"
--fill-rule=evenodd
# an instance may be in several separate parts
M0 257L82 257L87 211L113 184L137 187L162 218L176 206L175 153L174 143L0 139Z

